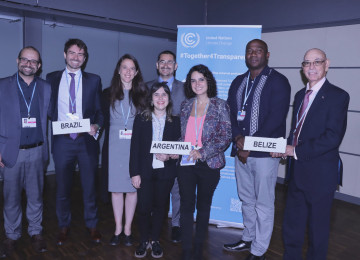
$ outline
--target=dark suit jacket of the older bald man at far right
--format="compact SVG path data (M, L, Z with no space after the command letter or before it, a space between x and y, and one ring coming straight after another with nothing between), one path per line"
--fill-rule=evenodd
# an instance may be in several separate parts
M288 144L292 144L296 114L304 95L305 89L295 95ZM327 80L317 93L295 147L298 159L290 160L290 181L294 181L302 190L313 194L335 191L338 185L339 146L346 130L349 100L346 91Z

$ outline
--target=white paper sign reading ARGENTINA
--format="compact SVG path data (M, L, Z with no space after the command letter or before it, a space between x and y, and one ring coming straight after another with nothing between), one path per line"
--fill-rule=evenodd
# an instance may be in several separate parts
M150 153L188 155L191 151L190 142L152 141Z

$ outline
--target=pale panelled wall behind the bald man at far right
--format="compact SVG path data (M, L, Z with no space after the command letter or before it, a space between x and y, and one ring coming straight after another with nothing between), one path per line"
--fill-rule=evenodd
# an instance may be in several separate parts
M294 94L304 87L300 63L306 50L316 47L326 52L331 62L327 78L350 94L347 131L340 146L344 179L339 192L360 198L360 25L263 33L262 39L269 45L270 66L290 81L291 104ZM288 130L291 111L292 107ZM278 176L284 175L285 166L281 166Z

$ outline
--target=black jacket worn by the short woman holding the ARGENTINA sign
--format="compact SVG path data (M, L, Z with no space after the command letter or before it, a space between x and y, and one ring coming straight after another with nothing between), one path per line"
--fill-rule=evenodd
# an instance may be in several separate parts
M130 148L130 176L140 175L141 178L151 179L153 171L153 154L150 153L152 142L152 122L146 121L139 114L135 117L133 134ZM173 116L172 122L165 122L163 141L178 141L180 138L180 119ZM164 162L164 171L160 173L160 179L176 177L177 160L170 159Z

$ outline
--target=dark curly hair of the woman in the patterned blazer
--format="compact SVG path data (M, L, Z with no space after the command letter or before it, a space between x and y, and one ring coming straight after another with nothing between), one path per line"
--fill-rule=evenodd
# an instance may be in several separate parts
M191 74L195 71L203 74L203 76L205 77L208 86L208 90L207 90L208 97L209 98L216 97L217 95L216 80L212 72L209 70L209 68L203 64L195 65L189 70L184 84L186 97L193 98L196 96L196 94L194 93L191 87Z

